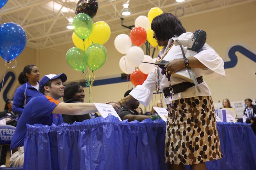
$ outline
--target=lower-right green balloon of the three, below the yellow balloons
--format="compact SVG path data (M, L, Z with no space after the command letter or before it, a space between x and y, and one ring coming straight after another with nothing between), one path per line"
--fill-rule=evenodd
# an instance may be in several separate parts
M84 61L92 71L101 68L106 60L107 50L101 44L92 44L85 50Z

